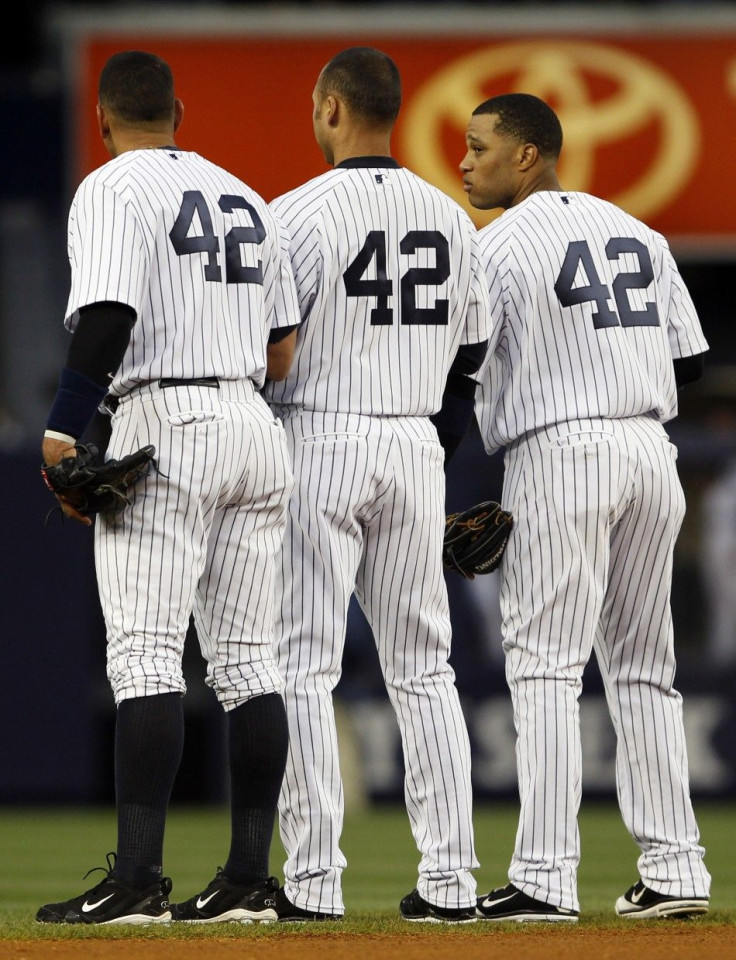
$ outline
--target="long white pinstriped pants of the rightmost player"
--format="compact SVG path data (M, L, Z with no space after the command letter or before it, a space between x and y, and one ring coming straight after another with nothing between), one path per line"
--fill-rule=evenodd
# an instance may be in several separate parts
M593 649L639 874L659 893L708 896L673 687L672 555L685 512L676 457L650 417L572 421L506 453L515 526L501 612L521 799L509 879L558 906L579 909L578 697Z

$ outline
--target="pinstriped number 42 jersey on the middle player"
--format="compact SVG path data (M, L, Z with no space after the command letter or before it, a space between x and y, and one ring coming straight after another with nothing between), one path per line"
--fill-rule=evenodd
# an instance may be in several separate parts
M289 375L266 396L343 413L439 410L458 346L490 332L467 214L385 166L331 170L271 208L292 237L302 317L320 319L300 329Z

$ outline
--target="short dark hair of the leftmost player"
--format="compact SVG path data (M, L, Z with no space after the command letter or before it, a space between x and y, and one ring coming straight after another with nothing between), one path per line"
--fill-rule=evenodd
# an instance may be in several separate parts
M153 53L114 53L100 73L100 103L126 123L171 120L174 77L171 67Z

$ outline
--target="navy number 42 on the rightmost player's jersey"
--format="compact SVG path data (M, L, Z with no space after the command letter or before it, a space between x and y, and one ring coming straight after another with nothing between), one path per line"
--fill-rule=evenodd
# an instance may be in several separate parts
M563 307L572 307L576 303L595 303L593 326L601 327L657 327L659 314L655 303L647 303L644 310L632 310L629 303L629 290L645 290L654 279L652 258L640 240L633 237L612 237L606 244L606 257L618 260L622 253L633 253L639 261L639 269L630 273L619 273L612 284L612 291L602 283L595 269L590 247L586 240L574 240L569 244L565 261L555 282L555 293ZM583 267L588 282L584 286L573 287L575 276ZM613 297L616 310L609 307Z

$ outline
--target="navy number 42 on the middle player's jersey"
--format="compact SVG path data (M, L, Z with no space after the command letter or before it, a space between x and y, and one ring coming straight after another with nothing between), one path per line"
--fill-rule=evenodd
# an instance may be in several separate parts
M435 300L433 307L418 307L418 286L439 286L450 276L450 248L447 240L437 230L410 230L401 241L402 253L417 250L434 250L433 267L410 267L401 277L401 323L447 325L448 301ZM375 280L364 276L372 260L375 260ZM376 306L371 310L373 326L387 326L394 322L394 311L388 305L393 296L393 281L386 274L386 233L371 230L360 253L342 275L345 293L349 297L375 297Z

